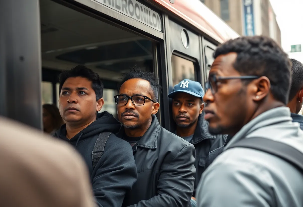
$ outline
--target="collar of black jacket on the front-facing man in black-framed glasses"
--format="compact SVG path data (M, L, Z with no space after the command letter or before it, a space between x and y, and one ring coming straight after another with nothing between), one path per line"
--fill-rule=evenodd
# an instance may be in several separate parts
M141 139L137 142L136 146L145 147L148 149L156 149L157 148L157 139L158 139L158 134L159 134L160 128L161 128L161 126L158 122L156 115L152 115L151 125L146 130L146 132L141 137ZM123 136L124 136L124 127L123 126L121 127L117 136L124 139L123 138Z

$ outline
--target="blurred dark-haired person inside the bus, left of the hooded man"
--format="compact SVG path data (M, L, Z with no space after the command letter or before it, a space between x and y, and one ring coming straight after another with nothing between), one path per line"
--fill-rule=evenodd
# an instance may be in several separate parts
M44 104L42 110L43 131L53 136L64 124L59 109L55 105Z

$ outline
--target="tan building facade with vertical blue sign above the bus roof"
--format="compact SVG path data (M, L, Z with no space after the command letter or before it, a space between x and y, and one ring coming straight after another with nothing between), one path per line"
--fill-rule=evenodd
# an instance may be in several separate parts
M264 35L281 45L281 32L269 0L200 0L238 34Z

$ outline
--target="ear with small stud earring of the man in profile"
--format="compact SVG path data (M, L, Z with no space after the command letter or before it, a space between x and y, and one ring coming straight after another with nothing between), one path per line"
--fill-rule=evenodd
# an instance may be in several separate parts
M251 85L251 84L250 84ZM253 100L260 101L266 97L270 92L270 80L266 76L259 77L252 82L250 90L253 90Z

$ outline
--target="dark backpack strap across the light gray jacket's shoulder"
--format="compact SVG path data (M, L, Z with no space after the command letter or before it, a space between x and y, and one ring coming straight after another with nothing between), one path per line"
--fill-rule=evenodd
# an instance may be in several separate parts
M228 149L234 147L251 148L277 156L280 159L283 159L286 162L290 163L301 173L303 173L303 153L289 146L288 144L267 138L252 137L248 139L242 139L237 143L232 144Z

